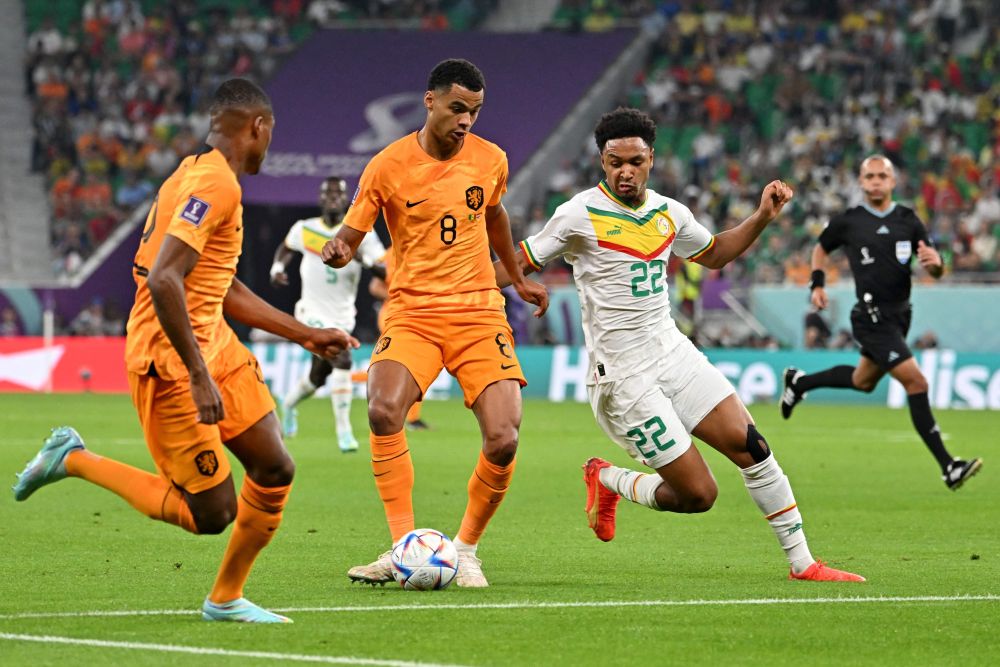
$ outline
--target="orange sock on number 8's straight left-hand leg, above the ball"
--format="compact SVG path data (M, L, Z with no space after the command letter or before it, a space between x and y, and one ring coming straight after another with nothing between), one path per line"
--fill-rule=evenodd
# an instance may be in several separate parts
M418 404L419 405L419 404ZM395 542L413 530L413 460L406 444L406 431L369 437L372 472L385 507L385 520Z

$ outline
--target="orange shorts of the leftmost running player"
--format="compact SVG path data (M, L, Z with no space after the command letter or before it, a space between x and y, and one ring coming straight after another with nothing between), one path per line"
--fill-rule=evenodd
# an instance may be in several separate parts
M274 399L257 359L239 341L222 351L212 370L225 409L225 419L217 424L198 423L187 378L164 380L138 373L128 377L132 403L156 469L188 493L200 493L224 482L230 467L222 443L274 410Z

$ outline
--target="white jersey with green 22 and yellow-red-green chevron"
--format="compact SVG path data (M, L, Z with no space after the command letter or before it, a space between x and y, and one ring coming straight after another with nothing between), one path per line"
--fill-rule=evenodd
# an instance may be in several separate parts
M668 253L694 259L714 242L680 202L647 190L632 207L602 181L557 208L521 249L536 268L556 257L573 265L591 378L602 382L648 366L683 339L670 317Z

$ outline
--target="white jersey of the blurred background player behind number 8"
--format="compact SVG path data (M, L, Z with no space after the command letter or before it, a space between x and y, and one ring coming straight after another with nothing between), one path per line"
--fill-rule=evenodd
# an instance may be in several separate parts
M302 297L295 304L296 319L310 326L336 327L350 332L354 329L358 282L361 266L372 266L385 254L377 234L365 234L358 246L361 264L350 261L340 269L323 263L320 252L333 238L340 225L328 227L321 218L299 220L288 230L285 246L302 253L299 275L302 277Z

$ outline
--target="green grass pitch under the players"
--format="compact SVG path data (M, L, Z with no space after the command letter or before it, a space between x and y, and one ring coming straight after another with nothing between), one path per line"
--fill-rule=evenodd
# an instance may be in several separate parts
M62 423L94 451L151 469L127 397L7 395L0 407L10 482ZM490 588L352 585L347 568L389 539L364 405L354 406L362 449L343 455L329 402L311 400L288 443L298 475L284 523L246 591L293 625L203 622L195 611L225 538L150 521L70 479L25 503L0 500L0 663L996 664L996 413L937 415L955 453L986 460L952 493L906 411L806 403L789 422L774 405L752 412L791 478L813 553L867 583L788 581L738 472L704 445L720 487L710 512L623 502L617 537L597 541L580 466L627 457L588 406L527 402L513 486L480 547ZM433 430L409 435L417 524L453 535L478 430L458 402L431 402L425 418Z

